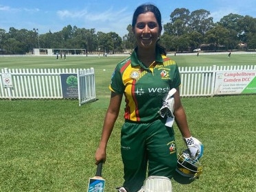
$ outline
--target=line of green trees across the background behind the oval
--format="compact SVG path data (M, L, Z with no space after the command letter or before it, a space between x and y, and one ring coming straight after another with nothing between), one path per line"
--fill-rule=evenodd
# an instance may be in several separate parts
M170 22L163 24L161 45L167 51L231 51L256 49L256 19L252 16L228 14L217 23L207 10L190 12L176 8L170 14ZM115 32L96 32L95 29L67 25L60 32L39 34L38 29L0 29L0 53L25 54L34 48L86 49L87 53L117 53L135 47L132 26L122 38Z

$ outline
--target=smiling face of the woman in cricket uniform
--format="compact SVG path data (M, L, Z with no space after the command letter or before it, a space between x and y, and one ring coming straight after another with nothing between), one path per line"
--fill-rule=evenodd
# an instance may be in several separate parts
M161 30L153 12L139 14L137 23L133 29L138 47L155 48Z

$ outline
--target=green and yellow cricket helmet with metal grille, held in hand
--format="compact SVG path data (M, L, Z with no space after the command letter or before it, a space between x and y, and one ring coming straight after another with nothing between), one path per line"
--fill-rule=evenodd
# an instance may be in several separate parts
M199 158L191 158L188 149L178 154L176 172L181 176L194 180L199 178L202 173L202 165L199 163Z

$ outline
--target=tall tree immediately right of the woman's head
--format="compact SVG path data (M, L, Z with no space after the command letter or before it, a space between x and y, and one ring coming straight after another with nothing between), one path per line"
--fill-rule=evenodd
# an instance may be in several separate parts
M185 8L177 8L170 14L171 22L163 25L164 44L170 50L176 51L185 51L189 47L193 50L199 47L207 30L214 25L209 14L207 10L196 10L190 14Z

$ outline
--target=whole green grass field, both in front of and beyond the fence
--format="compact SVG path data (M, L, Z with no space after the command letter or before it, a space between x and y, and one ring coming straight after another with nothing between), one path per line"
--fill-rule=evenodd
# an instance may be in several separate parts
M97 101L0 100L0 191L86 191L108 107L108 83L124 57L0 57L0 68L95 68ZM174 58L174 57L173 57ZM254 55L176 56L179 66L255 64ZM105 69L105 70L104 70ZM255 191L256 95L182 98L192 134L205 145L203 173L175 192ZM124 104L123 104L124 105ZM124 107L124 106L122 106ZM121 186L123 110L108 143L106 192ZM178 149L185 147L175 125Z

